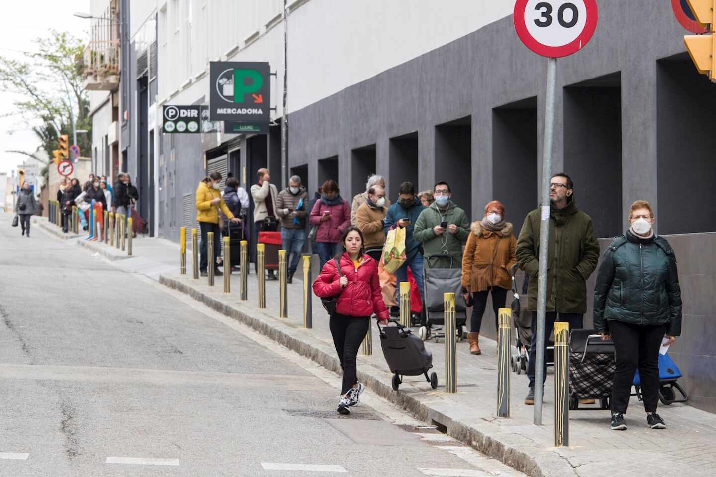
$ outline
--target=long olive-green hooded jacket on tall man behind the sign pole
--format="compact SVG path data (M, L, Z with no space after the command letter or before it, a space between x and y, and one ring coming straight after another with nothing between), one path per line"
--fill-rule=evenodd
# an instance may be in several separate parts
M517 264L530 277L527 309L537 310L541 209L527 214L517 240ZM547 310L586 312L586 280L599 261L591 217L579 210L574 194L563 209L551 207L547 252Z

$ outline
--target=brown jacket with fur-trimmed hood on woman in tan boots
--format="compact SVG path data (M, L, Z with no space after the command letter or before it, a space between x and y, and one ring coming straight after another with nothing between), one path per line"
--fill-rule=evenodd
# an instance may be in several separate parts
M502 230L484 229L480 220L470 225L468 243L463 253L463 287L471 292L482 292L488 287L512 287L510 267L517 263L517 239L513 227L506 222Z

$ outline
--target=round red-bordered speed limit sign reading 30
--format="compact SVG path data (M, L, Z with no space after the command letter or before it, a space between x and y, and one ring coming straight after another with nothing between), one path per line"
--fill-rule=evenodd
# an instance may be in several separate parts
M595 0L517 0L513 19L529 49L560 58L587 44L598 16Z

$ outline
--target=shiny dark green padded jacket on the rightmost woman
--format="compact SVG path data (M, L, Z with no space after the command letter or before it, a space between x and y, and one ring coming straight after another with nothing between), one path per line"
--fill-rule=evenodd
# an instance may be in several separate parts
M667 325L681 335L681 288L676 256L663 237L644 239L627 230L604 252L594 285L594 328L609 334L609 321Z

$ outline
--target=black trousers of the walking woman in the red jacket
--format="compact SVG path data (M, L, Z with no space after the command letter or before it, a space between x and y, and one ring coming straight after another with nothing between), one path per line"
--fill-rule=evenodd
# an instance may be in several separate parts
M329 328L343 369L342 395L357 383L356 355L358 348L363 343L363 338L368 334L369 325L370 317L368 316L346 316L336 313L331 317Z

